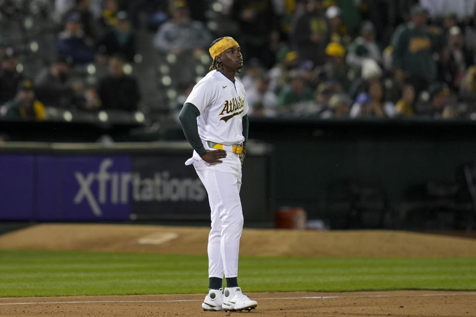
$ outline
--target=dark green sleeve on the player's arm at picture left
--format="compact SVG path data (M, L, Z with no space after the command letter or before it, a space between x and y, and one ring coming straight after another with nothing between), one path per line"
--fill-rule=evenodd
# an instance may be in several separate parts
M199 115L200 111L196 106L186 103L180 110L179 119L185 138L187 138L193 150L202 157L207 153L207 151L203 147L200 136L198 135L197 117Z

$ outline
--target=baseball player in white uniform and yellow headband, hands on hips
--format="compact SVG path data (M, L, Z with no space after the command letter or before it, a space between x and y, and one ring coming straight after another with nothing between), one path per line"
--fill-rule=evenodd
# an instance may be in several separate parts
M211 230L208 236L209 290L205 311L251 310L258 305L238 287L238 250L243 228L239 198L241 165L248 137L248 103L235 78L243 56L233 38L212 42L210 72L194 87L179 114L183 133L193 147L193 164L208 193ZM223 292L225 275L227 287Z

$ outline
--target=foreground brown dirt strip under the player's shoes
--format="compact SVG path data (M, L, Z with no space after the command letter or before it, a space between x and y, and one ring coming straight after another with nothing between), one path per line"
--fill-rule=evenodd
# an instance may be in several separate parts
M204 294L0 298L0 316L25 317L476 317L476 292L249 293L250 313L203 312ZM242 316L242 315L239 315ZM245 315L246 316L246 315Z

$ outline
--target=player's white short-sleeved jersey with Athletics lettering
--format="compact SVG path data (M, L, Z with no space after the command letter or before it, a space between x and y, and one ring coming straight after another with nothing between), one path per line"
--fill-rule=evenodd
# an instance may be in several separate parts
M202 141L233 145L244 141L242 117L248 112L244 86L217 70L210 71L193 87L185 103L200 111L198 135Z

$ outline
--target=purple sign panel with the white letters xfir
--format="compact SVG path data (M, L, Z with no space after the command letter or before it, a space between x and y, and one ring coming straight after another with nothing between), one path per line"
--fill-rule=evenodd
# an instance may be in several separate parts
M124 220L130 214L129 157L37 157L37 218L40 220ZM123 192L120 192L123 191Z

